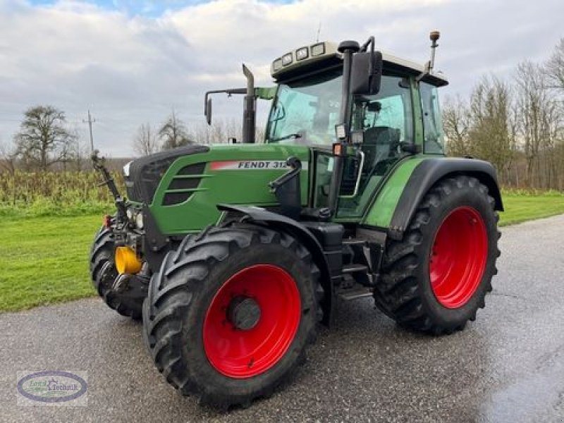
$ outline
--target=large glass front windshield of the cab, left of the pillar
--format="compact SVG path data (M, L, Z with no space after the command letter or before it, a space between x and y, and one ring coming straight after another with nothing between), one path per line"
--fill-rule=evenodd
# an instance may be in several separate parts
M331 145L341 107L341 68L278 87L266 142Z

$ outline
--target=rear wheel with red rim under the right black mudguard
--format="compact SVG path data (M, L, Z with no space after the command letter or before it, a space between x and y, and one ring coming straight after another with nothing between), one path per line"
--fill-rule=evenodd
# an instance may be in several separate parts
M376 306L402 326L452 333L474 320L499 257L494 199L476 178L441 180L402 241L388 241Z

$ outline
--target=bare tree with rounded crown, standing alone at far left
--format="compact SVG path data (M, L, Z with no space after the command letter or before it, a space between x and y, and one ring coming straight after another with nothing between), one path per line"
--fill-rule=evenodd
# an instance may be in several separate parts
M63 161L74 137L66 128L63 111L53 106L34 106L25 111L14 140L27 164L47 171L51 164Z

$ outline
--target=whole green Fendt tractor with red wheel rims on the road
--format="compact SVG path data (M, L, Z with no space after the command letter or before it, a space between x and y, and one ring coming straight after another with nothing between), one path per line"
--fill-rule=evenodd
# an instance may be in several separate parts
M496 172L448 158L424 66L318 42L273 61L274 87L243 66L243 140L131 161L94 240L90 270L109 307L142 319L159 372L217 407L269 396L305 358L336 302L372 297L414 331L474 320L491 291L503 210ZM271 101L255 143L257 100Z

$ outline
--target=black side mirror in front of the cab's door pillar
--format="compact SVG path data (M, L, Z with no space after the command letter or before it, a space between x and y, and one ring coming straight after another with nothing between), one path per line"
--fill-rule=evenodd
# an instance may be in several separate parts
M382 54L380 51L364 51L355 54L350 69L350 94L378 94L381 77Z

